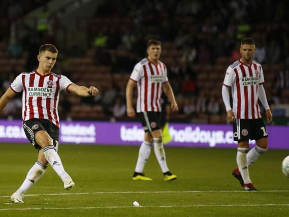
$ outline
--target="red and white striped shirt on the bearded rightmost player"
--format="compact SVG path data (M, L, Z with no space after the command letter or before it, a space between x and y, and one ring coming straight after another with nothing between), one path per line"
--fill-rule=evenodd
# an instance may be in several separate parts
M236 118L261 118L258 89L264 82L262 66L255 61L248 66L238 60L228 67L223 84L232 88Z

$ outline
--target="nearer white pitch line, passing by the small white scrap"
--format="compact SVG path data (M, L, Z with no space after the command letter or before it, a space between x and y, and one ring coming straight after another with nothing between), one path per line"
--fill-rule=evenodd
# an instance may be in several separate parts
M159 205L159 206L95 206L95 207L28 207L28 208L4 208L0 211L10 210L61 210L61 209L119 209L119 208L185 208L185 207L238 207L238 206L289 206L289 204L191 204L191 205Z

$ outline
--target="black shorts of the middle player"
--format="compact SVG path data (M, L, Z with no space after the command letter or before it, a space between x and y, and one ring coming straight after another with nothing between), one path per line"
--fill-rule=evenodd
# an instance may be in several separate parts
M155 130L162 129L160 127L160 112L147 111L138 113L138 118L140 119L143 129L145 132L152 132Z

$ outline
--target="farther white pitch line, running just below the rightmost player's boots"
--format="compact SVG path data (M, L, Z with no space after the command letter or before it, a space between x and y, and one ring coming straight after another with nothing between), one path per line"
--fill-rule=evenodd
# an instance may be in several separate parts
M268 190L258 192L289 192L289 190ZM252 192L252 193L258 193ZM247 193L246 191L144 191L144 192L79 192L79 193L54 193L54 194L27 194L24 197L34 196L57 196L57 195L92 195L92 194L194 194L194 193ZM0 198L11 197L11 195L0 196Z

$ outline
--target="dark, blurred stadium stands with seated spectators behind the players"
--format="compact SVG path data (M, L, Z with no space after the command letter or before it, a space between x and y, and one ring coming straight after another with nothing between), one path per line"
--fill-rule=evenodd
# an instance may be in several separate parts
M35 70L39 46L52 43L59 50L55 73L101 90L90 99L62 93L60 119L133 120L121 111L125 85L154 38L163 42L161 60L180 108L170 121L226 123L224 73L239 58L240 40L252 37L273 123L287 125L287 11L287 1L2 1L1 93L16 75ZM0 117L20 119L20 100Z

